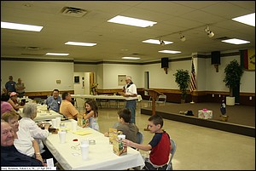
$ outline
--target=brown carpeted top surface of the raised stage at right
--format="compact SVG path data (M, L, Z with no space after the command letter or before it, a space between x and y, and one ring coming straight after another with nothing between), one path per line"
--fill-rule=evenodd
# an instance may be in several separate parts
M151 109L147 107L145 109ZM218 103L185 103L185 104L169 104L169 105L156 105L155 111L162 111L166 113L179 114L179 111L193 111L197 117L198 110L208 109L212 111L212 120L218 120L221 115L220 104ZM247 105L226 105L226 115L229 116L228 123L236 123L255 127L255 106ZM183 115L183 114L181 114Z

